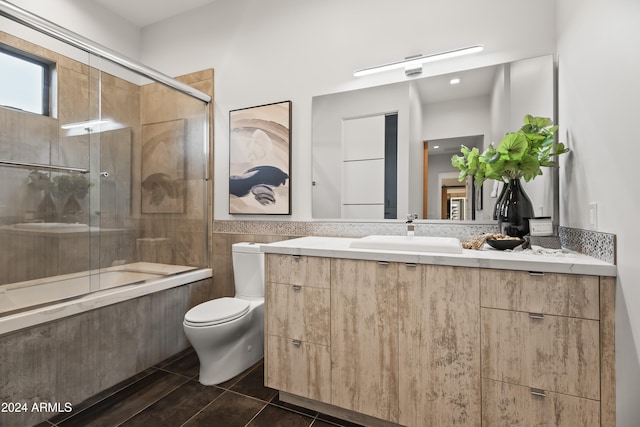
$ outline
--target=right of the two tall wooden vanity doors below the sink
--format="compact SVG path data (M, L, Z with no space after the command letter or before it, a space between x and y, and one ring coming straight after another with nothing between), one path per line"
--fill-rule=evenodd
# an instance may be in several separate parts
M401 264L398 277L400 424L479 426L478 269Z

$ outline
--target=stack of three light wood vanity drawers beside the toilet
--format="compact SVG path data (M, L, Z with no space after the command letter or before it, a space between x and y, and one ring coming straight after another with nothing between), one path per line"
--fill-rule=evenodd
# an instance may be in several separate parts
M267 254L265 385L330 402L330 260Z

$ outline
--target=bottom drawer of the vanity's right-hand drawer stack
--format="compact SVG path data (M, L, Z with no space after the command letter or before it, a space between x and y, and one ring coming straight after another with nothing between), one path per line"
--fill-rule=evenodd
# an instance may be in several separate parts
M599 426L600 402L483 380L482 425Z

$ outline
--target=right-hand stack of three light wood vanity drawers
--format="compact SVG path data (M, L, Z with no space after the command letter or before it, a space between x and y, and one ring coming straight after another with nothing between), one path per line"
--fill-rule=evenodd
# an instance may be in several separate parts
M600 425L613 369L603 356L612 341L600 322L609 295L600 281L480 270L485 425ZM615 425L609 409L602 425Z

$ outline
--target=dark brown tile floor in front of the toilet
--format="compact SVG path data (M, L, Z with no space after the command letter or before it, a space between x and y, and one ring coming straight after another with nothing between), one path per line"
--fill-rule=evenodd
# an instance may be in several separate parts
M264 386L262 361L217 386L198 382L189 349L75 405L42 427L359 427L281 402Z

